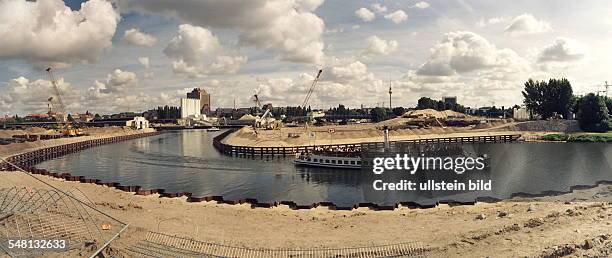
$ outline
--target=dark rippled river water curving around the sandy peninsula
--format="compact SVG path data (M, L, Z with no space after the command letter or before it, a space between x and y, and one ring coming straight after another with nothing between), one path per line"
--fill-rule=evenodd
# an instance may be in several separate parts
M219 133L170 131L86 149L46 161L39 167L145 189L191 192L193 196L257 198L261 202L291 200L299 204L330 201L337 205L469 201L479 196L506 198L516 192L567 191L574 185L612 180L612 144L483 144L477 149L491 157L493 191L442 195L374 191L372 182L377 177L371 171L295 167L290 158L222 155L212 146L213 137ZM383 179L391 182L395 177L387 173Z

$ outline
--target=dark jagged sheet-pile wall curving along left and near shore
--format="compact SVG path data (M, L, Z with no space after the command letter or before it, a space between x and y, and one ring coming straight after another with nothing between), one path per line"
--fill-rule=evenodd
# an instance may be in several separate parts
M242 205L248 204L251 208L273 208L278 206L288 206L293 210L309 210L317 207L327 207L330 210L354 210L359 208L368 208L374 211L389 211L395 210L402 207L407 207L411 209L429 209L435 208L439 205L449 205L449 206L458 206L458 205L474 205L478 202L481 203L497 203L508 199L513 198L538 198L538 197L550 197L550 196L559 196L564 194L573 193L575 190L584 190L598 187L600 185L609 185L612 184L612 181L609 180L599 180L594 185L574 185L569 188L568 191L542 191L539 193L525 193L518 192L512 193L508 199L499 199L494 197L477 197L474 201L469 202L459 202L454 200L441 200L435 202L433 204L420 204L413 201L399 201L393 205L379 205L372 202L361 202L355 203L352 206L339 206L334 204L333 202L321 201L311 204L298 204L293 201L274 201L274 202L259 202L256 198L242 198L238 200L225 200L223 196L219 195L211 195L211 196L201 196L196 197L193 196L190 192L166 192L165 189L143 189L139 185L128 185L124 186L118 182L103 182L99 179L95 178L86 178L84 176L73 176L70 173L55 173L50 172L46 169L38 169L34 166L42 161L57 158L63 155L67 155L70 153L74 153L86 148L95 147L103 144L110 144L119 141L131 140L136 138L155 136L162 134L163 132L148 132L148 133L138 133L138 134L130 134L124 136L113 136L99 139L86 140L81 142L74 142L64 145L57 145L46 148L39 148L35 150L30 150L25 153L17 154L10 156L6 160L11 162L26 172L36 174L36 175L46 175L53 178L64 179L66 181L75 181L80 183L90 183L96 185L104 185L108 187L113 187L115 189L134 193L135 195L147 196L147 195L155 195L158 194L160 198L181 198L183 196L187 197L187 202L216 202L219 204L230 204L230 205ZM2 170L11 170L11 166L8 164L0 164L0 171Z

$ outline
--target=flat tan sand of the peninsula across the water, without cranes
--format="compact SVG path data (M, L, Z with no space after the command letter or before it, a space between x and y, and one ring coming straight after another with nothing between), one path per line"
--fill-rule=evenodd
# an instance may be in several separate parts
M303 145L326 145L326 144L351 144L362 142L383 141L382 126L404 124L408 119L396 118L377 124L354 124L333 126L310 126L284 127L277 130L258 129L243 127L226 137L223 142L236 146L303 146ZM530 122L533 124L532 122ZM391 141L443 138L443 137L468 137L502 134L521 134L526 139L537 138L538 135L559 132L559 126L528 127L521 126L524 123L499 120L496 122L466 127L431 127L421 129L396 129L389 132ZM329 133L329 129L334 133ZM309 137L314 132L315 138ZM293 136L293 137L292 137Z

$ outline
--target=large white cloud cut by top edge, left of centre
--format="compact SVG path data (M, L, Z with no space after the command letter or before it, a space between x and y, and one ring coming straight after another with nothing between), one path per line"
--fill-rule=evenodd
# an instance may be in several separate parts
M291 62L318 63L324 58L325 23L312 11L322 0L251 0L236 4L218 0L117 0L125 11L156 13L183 23L233 28L239 43Z

